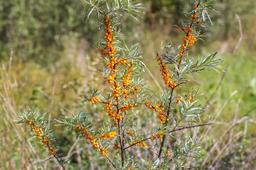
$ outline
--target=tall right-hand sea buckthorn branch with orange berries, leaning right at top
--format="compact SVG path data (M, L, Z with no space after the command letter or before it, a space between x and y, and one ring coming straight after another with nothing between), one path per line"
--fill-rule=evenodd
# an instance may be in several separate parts
M174 49L172 44L169 43L166 46L162 46L160 49L160 51L165 51L165 53L156 51L155 58L159 64L159 71L161 71L162 73L164 83L168 88L170 88L170 90L165 93L167 95L166 97L164 97L164 95L158 96L159 101L165 101L165 107L163 111L159 111L157 108L155 108L157 105L154 106L150 102L145 103L148 108L158 112L160 127L162 127L161 130L163 131L158 158L162 158L161 154L164 149L166 136L171 135L171 132L174 132L179 128L183 128L184 124L189 124L190 126L185 127L191 128L193 128L193 126L208 124L207 122L209 120L203 122L200 120L199 117L200 113L202 113L204 110L198 105L197 97L198 95L200 95L198 94L198 90L190 92L189 88L187 88L187 94L184 94L183 96L177 94L176 98L174 92L177 87L181 87L181 85L184 85L187 81L193 79L191 75L198 74L199 71L213 70L220 73L218 64L222 61L218 59L218 57L216 57L216 53L207 57L198 58L196 63L193 63L193 58L189 58L187 53L188 50L192 48L195 41L197 39L200 39L200 37L202 36L200 35L201 27L207 28L203 24L206 22L206 19L210 20L210 16L207 11L214 11L213 9L211 9L211 5L213 5L213 2L214 0L204 0L197 2L196 5L193 7L193 11L191 13L188 13L188 20L185 20L185 22L181 21L180 26L175 25L175 27L178 28L178 31L186 34L183 38L184 44ZM182 51L177 52L180 48L182 49ZM178 106L174 105L174 103L178 104ZM174 110L175 108L178 110L177 112ZM200 123L195 124L197 123L197 121L189 119L189 117L199 117ZM195 125L193 125L192 123ZM153 139L155 138L153 137ZM176 146L177 145L179 144L177 143ZM184 145L177 147L184 148ZM177 152L176 149L177 148L173 150L174 153ZM193 148L191 147L191 150L192 149ZM179 154L176 153L176 155L173 157L175 157L176 159L177 157L182 156L183 153L184 152L179 152ZM197 154L197 152L194 151L193 153ZM170 161L173 161L175 159L172 159Z

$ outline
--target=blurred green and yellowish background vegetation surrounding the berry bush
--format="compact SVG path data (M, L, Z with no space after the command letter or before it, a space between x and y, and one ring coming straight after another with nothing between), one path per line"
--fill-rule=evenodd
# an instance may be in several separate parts
M126 34L128 45L139 42L150 71L144 76L151 86L161 90L164 82L155 77L154 49L159 49L161 40L164 44L181 43L182 38L172 25L183 18L183 11L188 11L193 1L139 2L146 7L143 19L136 22L124 16L121 31ZM199 75L200 81L191 82L191 86L199 85L200 91L206 92L202 96L205 114L215 116L217 123L197 130L206 142L202 153L205 160L193 166L206 165L202 169L211 170L256 169L256 4L253 0L220 0L216 4L219 12L211 13L214 26L209 25L205 42L196 42L197 47L190 54L219 51L226 73L217 77L206 72ZM48 112L49 119L67 115L63 107L74 113L95 109L101 113L101 108L92 109L92 105L77 100L91 86L105 87L97 70L101 64L99 55L92 48L99 37L98 26L92 18L85 25L83 3L79 0L0 1L0 19L0 169L58 169L53 160L45 161L49 158L46 150L33 142L37 139L31 136L29 127L13 120L17 119L18 110L28 106ZM143 117L137 119L143 126ZM105 169L109 168L103 159L92 162L99 155L90 150L89 144L77 141L75 135L59 127L51 128L60 147L58 152L65 156L70 151L72 155L69 169L98 169L97 165L104 164ZM72 146L74 142L76 145Z

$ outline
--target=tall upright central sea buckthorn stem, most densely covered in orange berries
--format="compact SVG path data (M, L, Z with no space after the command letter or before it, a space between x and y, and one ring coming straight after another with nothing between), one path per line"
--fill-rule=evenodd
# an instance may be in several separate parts
M131 48L118 46L118 37L120 35L120 29L117 30L116 25L120 23L117 18L117 14L126 12L129 15L137 15L138 5L134 5L130 0L113 0L106 2L106 8L96 1L85 2L88 5L88 10L85 13L85 18L88 19L89 15L93 11L97 11L99 18L100 28L105 31L104 41L98 43L96 47L100 55L103 58L103 62L106 63L106 68L101 71L106 83L110 84L110 92L104 99L99 99L94 89L90 95L85 94L85 101L92 102L92 104L105 104L105 110L108 113L112 130L101 127L99 131L99 139L101 145L103 140L107 138L117 137L115 144L112 145L114 149L121 150L121 167L125 166L124 147L127 143L124 118L128 116L128 110L133 110L135 107L143 104L143 99L146 97L143 95L145 83L136 79L135 76L139 75L139 71L144 70L143 58L138 52L138 45L135 44ZM107 12L105 12L107 11ZM129 133L130 135L132 133ZM129 136L129 135L127 135ZM138 139L139 141L139 139ZM96 141L94 141L96 143ZM146 146L143 142L138 142L139 146ZM104 150L105 151L105 150ZM102 152L101 152L102 153ZM107 157L108 151L104 152L104 156ZM113 163L112 163L113 165ZM116 166L114 166L116 168Z

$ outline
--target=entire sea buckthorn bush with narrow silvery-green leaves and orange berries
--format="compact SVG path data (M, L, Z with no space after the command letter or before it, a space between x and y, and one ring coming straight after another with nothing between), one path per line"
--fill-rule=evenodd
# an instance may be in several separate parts
M195 1L191 11L186 13L185 19L178 25L177 32L184 35L181 44L174 48L171 43L162 45L155 50L155 62L158 64L159 75L166 85L164 93L154 98L149 95L150 86L141 76L146 71L144 57L139 52L138 44L128 47L119 40L122 15L128 14L137 19L141 15L140 4L131 0L82 0L85 3L85 22L92 13L98 14L98 25L104 33L103 38L95 44L104 68L99 71L109 90L92 90L83 95L82 103L91 102L100 105L107 119L101 120L100 129L95 129L92 114L81 111L71 116L61 117L60 126L68 126L75 130L77 135L92 144L92 149L99 152L99 157L107 159L117 170L140 169L195 169L190 166L193 159L201 158L200 147L202 140L191 136L193 130L200 126L211 126L210 116L202 117L204 112L199 104L199 89L190 89L186 83L193 79L193 75L208 70L219 73L218 63L221 62L216 53L207 57L189 57L189 50L200 40L202 29L207 29L206 22L211 22L209 11L214 0ZM153 49L152 49L153 50ZM186 91L180 94L178 89ZM135 115L153 112L153 119L158 124L140 126ZM34 136L48 148L49 155L60 163L63 169L65 161L57 155L54 146L54 137L47 128L47 120L38 110L29 109L19 113L18 123L27 123L31 126ZM147 117L145 116L145 119ZM189 131L190 130L190 131ZM171 144L170 144L171 143ZM134 148L147 153L136 156ZM98 168L97 168L98 169Z

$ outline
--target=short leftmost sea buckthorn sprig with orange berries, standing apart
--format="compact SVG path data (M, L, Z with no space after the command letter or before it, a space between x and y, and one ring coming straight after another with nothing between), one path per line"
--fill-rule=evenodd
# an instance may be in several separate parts
M46 113L44 113L43 115L39 115L39 110L33 110L28 108L28 110L24 110L23 113L19 112L18 120L15 121L18 121L18 124L29 124L30 131L34 133L34 137L37 137L39 141L43 143L45 148L48 148L48 153L52 156L49 159L55 158L60 166L63 168L63 170L66 170L66 161L63 161L63 159L56 154L55 149L57 147L54 145L55 139L52 130L48 129L48 120L43 118L45 115Z

